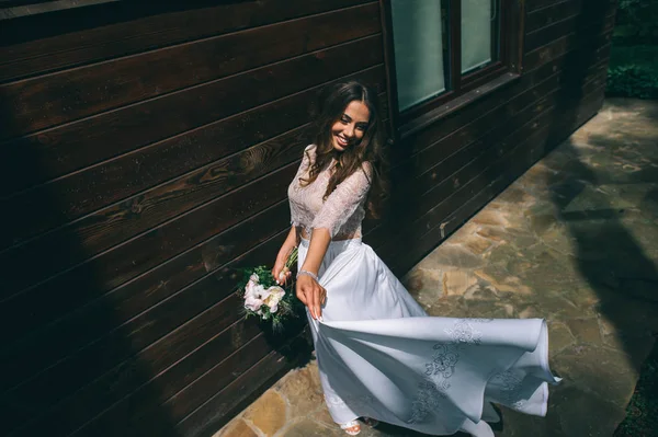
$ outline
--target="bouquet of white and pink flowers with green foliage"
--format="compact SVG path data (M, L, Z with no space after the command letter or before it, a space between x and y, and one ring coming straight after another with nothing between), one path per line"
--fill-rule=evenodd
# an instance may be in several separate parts
M285 262L281 279L290 272L297 261L297 248L294 248ZM246 317L256 315L264 321L272 321L274 331L281 331L283 322L290 317L296 317L294 307L297 302L294 294L294 283L285 287L276 284L272 269L264 265L254 268L242 268L243 277L238 284L238 296L243 302Z

